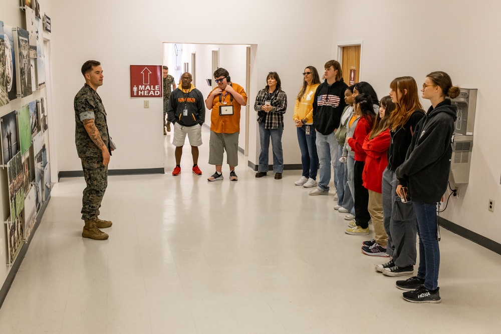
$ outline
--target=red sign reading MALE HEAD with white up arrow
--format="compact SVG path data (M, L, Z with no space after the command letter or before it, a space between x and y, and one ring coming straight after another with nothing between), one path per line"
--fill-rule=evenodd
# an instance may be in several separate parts
M161 98L162 67L160 65L131 65L130 97Z

